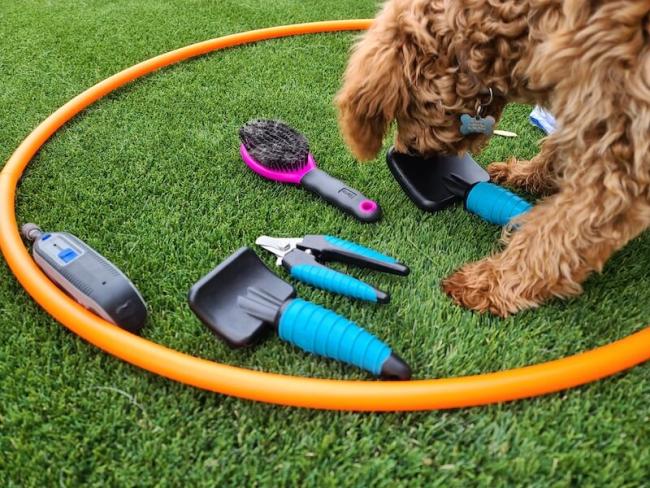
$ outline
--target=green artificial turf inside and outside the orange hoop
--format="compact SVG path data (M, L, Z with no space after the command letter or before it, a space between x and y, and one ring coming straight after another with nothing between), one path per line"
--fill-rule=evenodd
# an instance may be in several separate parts
M251 28L370 17L372 1L23 1L0 4L0 159L83 89L153 55ZM147 299L144 335L255 369L365 378L275 338L233 352L185 303L191 284L262 234L332 233L399 256L406 278L355 272L391 291L373 307L298 286L384 338L417 377L522 366L608 343L648 323L650 234L585 293L508 320L453 306L440 280L489 253L499 231L460 208L415 209L378 158L358 165L332 98L354 34L217 52L137 81L68 124L37 156L21 221L68 230ZM482 163L530 157L540 133L511 106ZM237 128L278 117L320 166L377 198L357 223L295 188L254 177ZM271 263L271 259L267 261ZM0 264L0 485L641 486L650 475L650 369L549 397L461 411L329 413L236 400L160 379L88 345L42 312Z

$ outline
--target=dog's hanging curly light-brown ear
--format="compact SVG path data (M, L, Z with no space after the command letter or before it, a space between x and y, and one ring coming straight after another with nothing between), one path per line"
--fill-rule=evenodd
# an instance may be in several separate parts
M406 100L400 49L377 24L355 47L336 97L345 142L360 160L377 155Z

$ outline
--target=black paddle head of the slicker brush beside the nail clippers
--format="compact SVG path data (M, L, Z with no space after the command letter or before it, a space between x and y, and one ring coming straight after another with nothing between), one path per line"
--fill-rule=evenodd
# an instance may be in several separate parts
M248 247L242 247L192 287L192 311L233 347L252 344L275 323L282 305L295 296Z

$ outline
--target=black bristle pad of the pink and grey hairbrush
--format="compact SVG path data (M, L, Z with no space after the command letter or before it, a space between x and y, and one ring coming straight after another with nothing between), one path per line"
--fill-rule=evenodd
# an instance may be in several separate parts
M307 138L278 120L252 120L239 129L239 139L248 154L267 168L294 171L307 164Z

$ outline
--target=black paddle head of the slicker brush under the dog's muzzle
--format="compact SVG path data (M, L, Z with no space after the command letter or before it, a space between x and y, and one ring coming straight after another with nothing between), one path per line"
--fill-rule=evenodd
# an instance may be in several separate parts
M490 179L469 153L421 158L391 148L386 161L404 192L427 212L437 212L462 200L472 186Z

